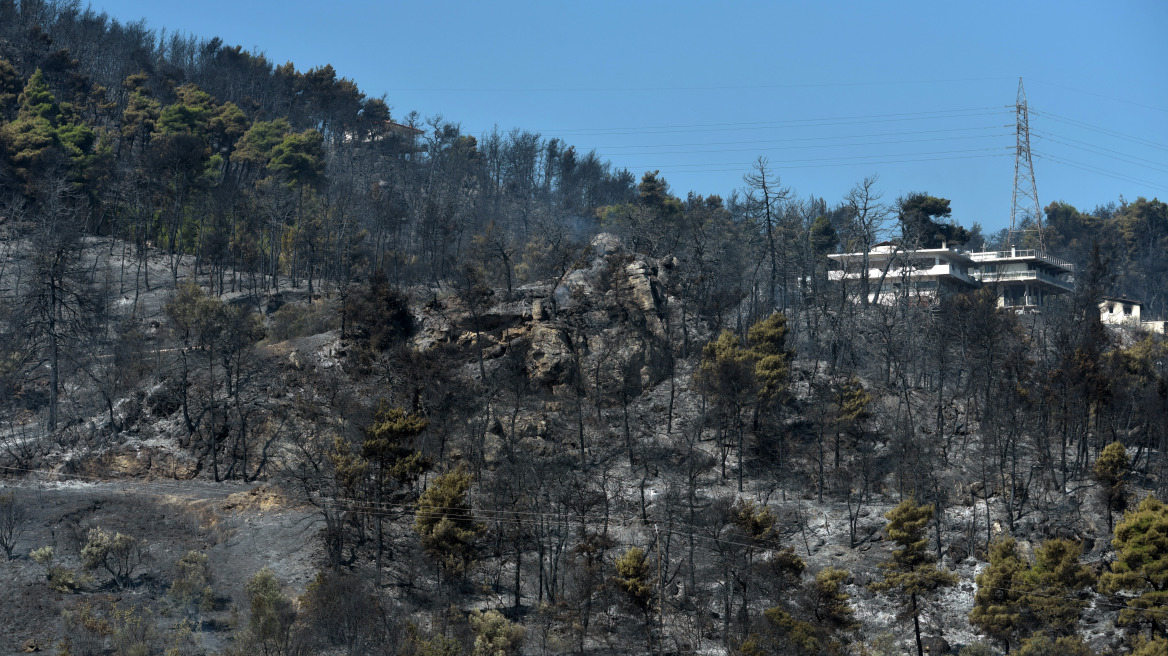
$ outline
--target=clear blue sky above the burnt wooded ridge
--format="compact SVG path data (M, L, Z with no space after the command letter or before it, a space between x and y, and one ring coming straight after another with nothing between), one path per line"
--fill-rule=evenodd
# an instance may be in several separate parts
M828 203L878 174L1008 225L1022 77L1043 205L1168 198L1168 2L95 0L119 21L333 64L395 118L596 148L674 194L766 156Z

